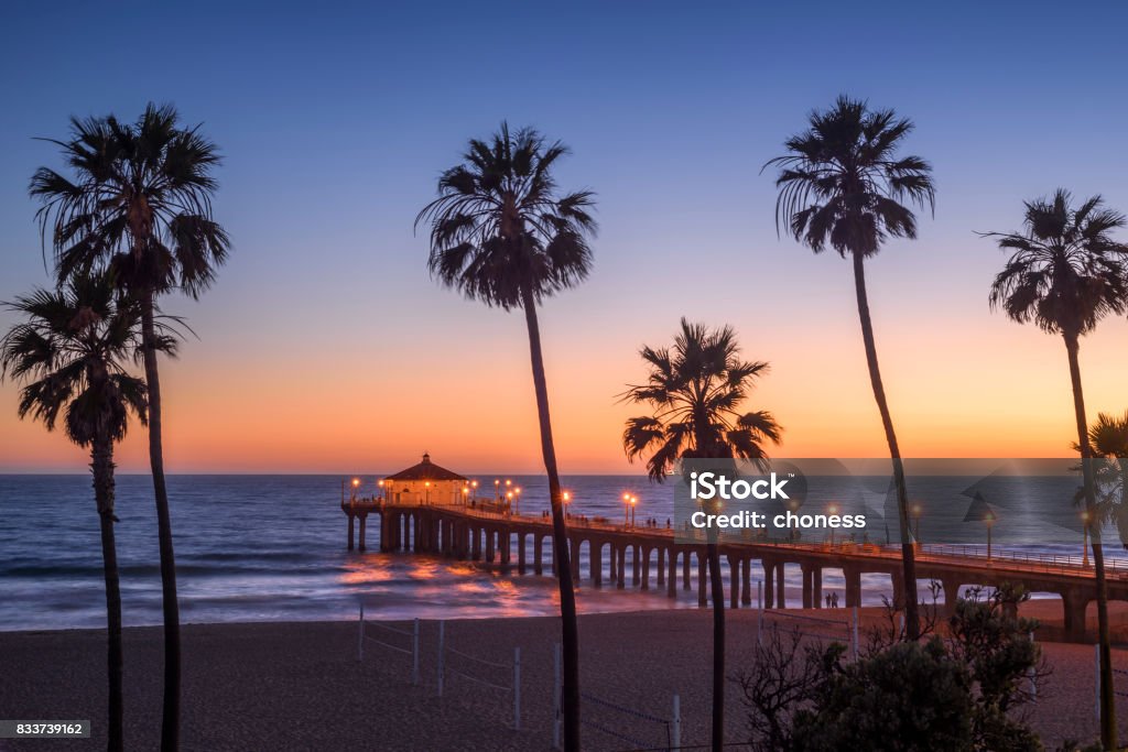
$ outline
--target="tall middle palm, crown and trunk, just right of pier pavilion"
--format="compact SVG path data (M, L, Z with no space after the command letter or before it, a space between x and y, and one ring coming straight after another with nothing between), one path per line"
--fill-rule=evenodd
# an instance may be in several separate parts
M583 281L591 266L593 194L559 195L553 179L553 167L567 153L561 142L547 143L532 129L510 132L502 123L490 141L470 140L462 162L439 178L439 197L418 213L415 227L430 224L428 266L441 284L490 307L525 311L561 594L564 747L572 752L580 749L580 648L537 324L537 304Z

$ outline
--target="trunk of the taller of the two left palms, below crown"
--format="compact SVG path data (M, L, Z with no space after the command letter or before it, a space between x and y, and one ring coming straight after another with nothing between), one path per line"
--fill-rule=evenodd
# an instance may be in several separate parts
M141 309L141 347L149 393L149 465L157 502L157 537L160 542L160 585L165 616L165 699L161 708L160 749L175 752L180 745L180 607L176 600L176 557L173 522L165 487L165 452L161 446L160 375L157 372L157 331L153 294L146 291Z

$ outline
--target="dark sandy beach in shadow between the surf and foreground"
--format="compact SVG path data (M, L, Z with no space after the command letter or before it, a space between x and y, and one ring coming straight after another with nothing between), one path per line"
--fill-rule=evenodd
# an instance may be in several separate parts
M820 634L845 634L845 609L800 612L837 623L781 618ZM879 617L867 609L865 620ZM757 614L729 613L730 672L754 660ZM707 741L710 613L649 611L581 617L585 722L636 742L664 744L664 726L628 716L669 717L672 696L681 701L682 744ZM840 621L839 621L840 620ZM409 628L405 622L389 625ZM421 682L412 684L408 655L371 640L358 661L356 622L190 625L184 628L185 750L547 750L552 738L554 618L446 622L446 642L499 664L521 648L521 731L512 728L511 695L447 672L437 697L435 621L421 625ZM409 638L369 625L389 644ZM125 634L126 749L157 747L160 722L160 629ZM1052 676L1031 713L1048 746L1066 736L1091 740L1093 647L1043 643ZM502 685L511 669L478 666L455 653L448 669ZM0 750L96 749L104 744L104 636L98 630L0 634L0 717L94 720L94 740L8 741ZM1118 652L1128 669L1128 651ZM729 741L746 738L739 688L728 696ZM1121 714L1128 734L1128 713ZM624 750L638 744L585 727L584 749ZM739 747L738 747L739 749Z

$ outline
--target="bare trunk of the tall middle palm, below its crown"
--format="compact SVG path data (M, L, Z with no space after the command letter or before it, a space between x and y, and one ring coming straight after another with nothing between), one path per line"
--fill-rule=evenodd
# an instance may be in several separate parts
M580 751L580 634L575 618L575 590L572 583L572 557L569 554L567 528L564 522L564 503L559 472L556 469L556 448L553 426L548 416L548 384L545 361L540 352L540 327L537 324L537 301L532 290L521 291L521 307L529 329L529 357L532 361L532 383L537 393L537 417L540 421L540 451L548 474L548 494L553 510L553 556L556 558L556 577L561 593L561 652L564 676L561 692L564 716L564 750Z

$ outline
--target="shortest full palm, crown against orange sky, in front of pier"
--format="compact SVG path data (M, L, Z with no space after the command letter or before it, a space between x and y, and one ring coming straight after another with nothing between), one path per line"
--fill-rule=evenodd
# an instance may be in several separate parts
M653 408L629 418L623 448L632 462L649 454L646 472L662 483L679 458L741 458L763 465L766 442L779 443L783 428L766 410L741 413L754 383L768 364L740 357L732 327L707 329L681 319L673 348L643 347L650 365L645 384L632 386L624 399ZM713 749L724 744L724 586L716 530L706 543L713 596Z

